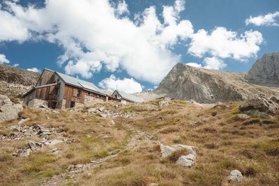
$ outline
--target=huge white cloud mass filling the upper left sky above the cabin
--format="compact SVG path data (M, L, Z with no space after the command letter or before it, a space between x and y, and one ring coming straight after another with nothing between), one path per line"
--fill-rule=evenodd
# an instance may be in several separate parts
M8 26L17 26L13 30L22 33L2 39L27 40L29 36L58 43L65 53L57 62L68 63L65 70L70 75L91 77L100 70L100 65L92 65L98 61L112 72L121 68L132 77L156 84L181 58L171 51L173 45L193 33L190 21L179 21L184 3L176 0L174 6L164 6L163 23L154 6L140 13L135 23L124 14L128 13L126 1L112 6L109 0L48 0L40 9L6 2L13 16L0 12L18 22Z

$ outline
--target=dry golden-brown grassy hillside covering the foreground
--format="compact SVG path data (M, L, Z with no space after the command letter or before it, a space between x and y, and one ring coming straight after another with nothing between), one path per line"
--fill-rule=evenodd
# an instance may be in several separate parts
M115 124L112 118L86 113L88 108L59 113L25 109L20 115L31 120L22 125L54 127L60 133L52 134L52 139L64 137L74 142L44 146L29 157L13 157L17 148L41 139L0 139L0 183L227 185L230 171L239 169L244 176L239 185L279 184L278 114L271 120L243 120L237 116L240 102L216 108L176 100L169 103L168 107L159 107L158 101L94 106L135 115L113 118ZM0 134L10 134L6 127L17 122L1 123ZM174 164L172 158L161 160L157 141L197 146L197 161L188 168ZM61 150L52 153L53 148Z

